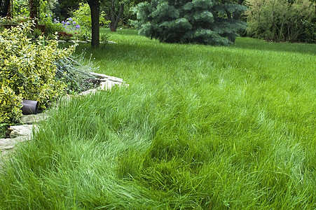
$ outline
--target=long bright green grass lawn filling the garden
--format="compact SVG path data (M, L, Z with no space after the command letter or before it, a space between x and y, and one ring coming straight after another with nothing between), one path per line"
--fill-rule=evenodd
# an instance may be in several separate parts
M42 123L0 172L0 209L316 208L316 45L109 39L78 53L130 86Z

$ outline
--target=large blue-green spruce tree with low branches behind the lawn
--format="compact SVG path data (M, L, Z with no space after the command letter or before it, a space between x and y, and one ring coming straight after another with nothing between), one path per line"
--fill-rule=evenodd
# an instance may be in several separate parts
M228 1L230 2L230 1ZM218 0L152 0L139 3L134 12L139 34L167 43L228 45L245 29L245 22L229 14L245 6Z

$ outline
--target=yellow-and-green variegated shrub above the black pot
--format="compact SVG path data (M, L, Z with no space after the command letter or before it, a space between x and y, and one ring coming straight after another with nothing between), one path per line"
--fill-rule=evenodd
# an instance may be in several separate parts
M54 62L69 56L75 46L62 50L57 48L57 41L46 42L41 36L32 43L27 38L31 27L27 22L0 31L0 85L23 99L38 101L41 109L46 109L48 102L64 91L64 84L55 80ZM15 113L2 114L8 116L5 120L14 122L18 118Z

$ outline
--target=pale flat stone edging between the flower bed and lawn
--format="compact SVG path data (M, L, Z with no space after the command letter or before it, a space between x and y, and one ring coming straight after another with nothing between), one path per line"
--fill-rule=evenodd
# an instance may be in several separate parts
M90 72L92 76L99 79L100 85L99 87L91 90L87 90L85 92L81 92L79 96L87 96L89 94L95 94L98 90L111 90L112 87L128 87L129 85L125 83L122 78L117 78L114 76L108 76L102 73ZM71 97L68 95L67 99ZM14 151L14 148L17 144L20 144L23 141L28 141L32 139L33 130L37 130L36 123L39 123L42 120L46 120L48 118L49 110L44 113L38 113L37 115L28 115L22 116L21 123L22 125L14 125L10 126L7 131L7 135L10 138L0 139L0 157L4 157L8 155L11 151ZM1 158L0 158L1 160ZM1 162L0 162L1 165Z

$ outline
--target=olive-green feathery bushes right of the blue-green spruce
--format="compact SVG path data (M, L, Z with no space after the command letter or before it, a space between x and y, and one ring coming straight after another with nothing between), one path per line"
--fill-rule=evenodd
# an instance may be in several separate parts
M315 7L308 0L249 0L248 34L268 41L314 42Z

